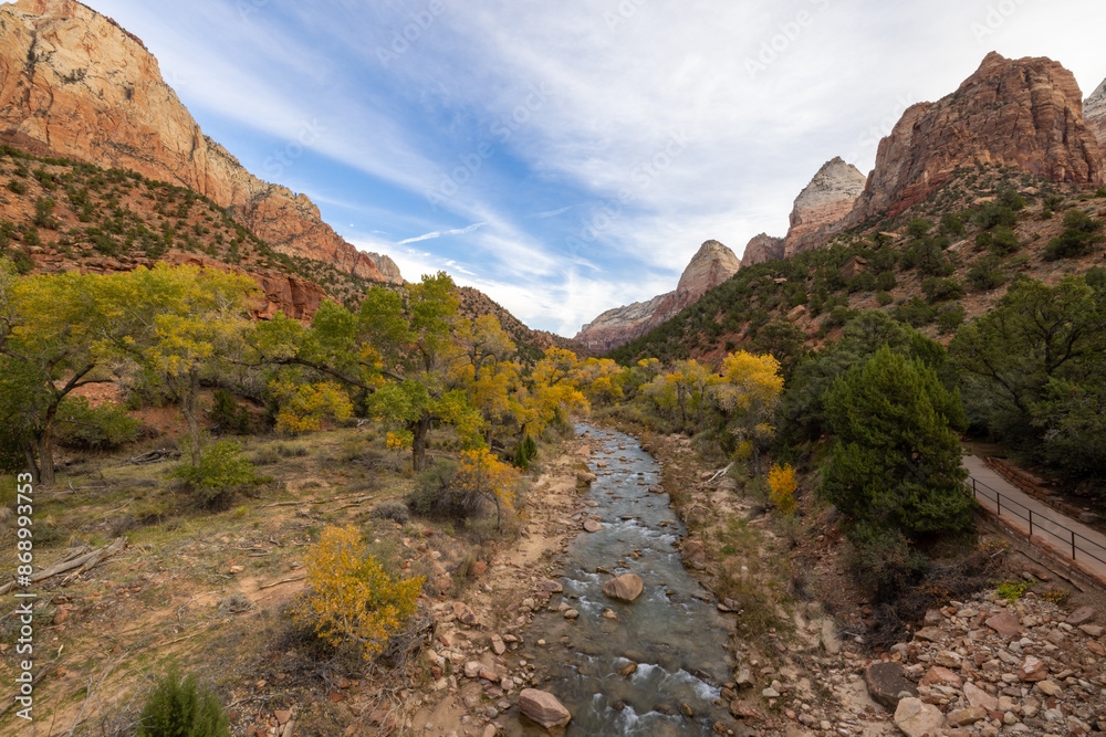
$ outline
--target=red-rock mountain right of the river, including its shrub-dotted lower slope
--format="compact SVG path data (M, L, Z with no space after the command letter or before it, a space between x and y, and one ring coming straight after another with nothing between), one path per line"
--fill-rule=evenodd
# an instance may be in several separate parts
M1058 260L1046 249L1070 209L1106 220L1104 150L1106 83L1084 103L1057 62L992 52L954 93L904 113L851 210L842 214L859 172L835 159L795 202L793 248L758 235L737 276L612 356L717 359L742 345L813 344L853 309L885 309L933 337L951 335L959 320L989 310L1015 275L1052 284L1102 264L1100 245ZM811 194L827 167L847 186L822 209ZM977 215L1003 202L1019 208L1004 215L1016 222L995 235ZM806 213L824 215L822 224L807 229L816 218ZM927 235L908 232L915 218L930 223Z

